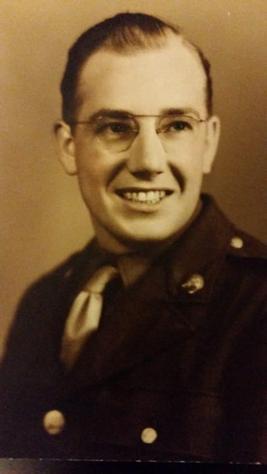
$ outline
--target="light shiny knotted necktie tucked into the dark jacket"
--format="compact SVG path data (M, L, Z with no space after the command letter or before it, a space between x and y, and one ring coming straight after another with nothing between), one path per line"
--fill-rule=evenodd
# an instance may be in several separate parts
M75 298L61 343L60 359L67 370L74 365L89 334L98 328L103 306L102 293L106 284L116 275L118 270L114 267L100 268Z

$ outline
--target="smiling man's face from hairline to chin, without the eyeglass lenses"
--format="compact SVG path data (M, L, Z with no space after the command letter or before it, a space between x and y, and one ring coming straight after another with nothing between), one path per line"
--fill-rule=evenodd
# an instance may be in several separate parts
M177 38L162 49L129 55L94 53L82 70L79 94L78 121L102 115L103 109L150 116L179 109L207 118L205 73ZM181 232L197 206L203 172L209 172L215 153L216 119L199 123L194 134L169 148L156 132L157 117L136 120L139 132L123 151L99 140L96 123L76 125L73 135L82 196L99 243L113 251L164 242ZM118 133L116 126L110 128L112 121L104 119L105 134Z

